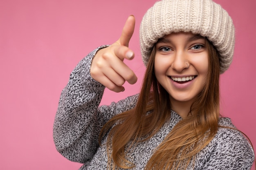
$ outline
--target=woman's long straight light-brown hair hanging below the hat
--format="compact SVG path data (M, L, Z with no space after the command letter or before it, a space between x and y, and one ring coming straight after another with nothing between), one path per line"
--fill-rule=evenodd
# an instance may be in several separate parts
M206 85L191 105L190 113L193 114L174 126L156 148L145 169L178 169L181 166L184 168L216 135L220 116L219 55L207 39L206 48L209 54L208 75ZM108 169L134 167L135 165L125 158L126 144L131 141L136 145L149 139L170 118L169 94L157 82L154 60L155 46L146 68L137 105L134 109L110 119L101 130L99 142L110 130L107 137Z

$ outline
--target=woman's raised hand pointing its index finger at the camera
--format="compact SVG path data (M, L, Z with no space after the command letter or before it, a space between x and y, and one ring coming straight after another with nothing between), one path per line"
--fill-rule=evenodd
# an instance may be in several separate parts
M92 60L90 74L111 91L124 91L123 84L137 82L135 73L124 64L124 59L132 60L134 52L128 48L135 27L135 17L126 20L121 37L111 46L99 50Z

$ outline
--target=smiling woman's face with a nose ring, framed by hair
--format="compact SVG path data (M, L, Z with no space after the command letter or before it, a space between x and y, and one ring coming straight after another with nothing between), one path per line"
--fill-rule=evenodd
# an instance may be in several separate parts
M205 43L203 37L192 33L171 33L158 40L155 76L169 93L172 105L191 104L202 91L209 65Z

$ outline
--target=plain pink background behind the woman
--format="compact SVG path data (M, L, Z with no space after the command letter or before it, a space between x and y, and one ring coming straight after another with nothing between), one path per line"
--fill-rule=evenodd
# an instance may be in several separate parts
M221 75L222 115L231 117L256 147L256 1L215 0L236 26L230 69ZM126 63L138 82L106 91L102 104L139 92L144 73L139 23L155 0L0 1L0 169L77 170L55 149L52 126L70 72L90 51L119 38L128 15L137 24Z

